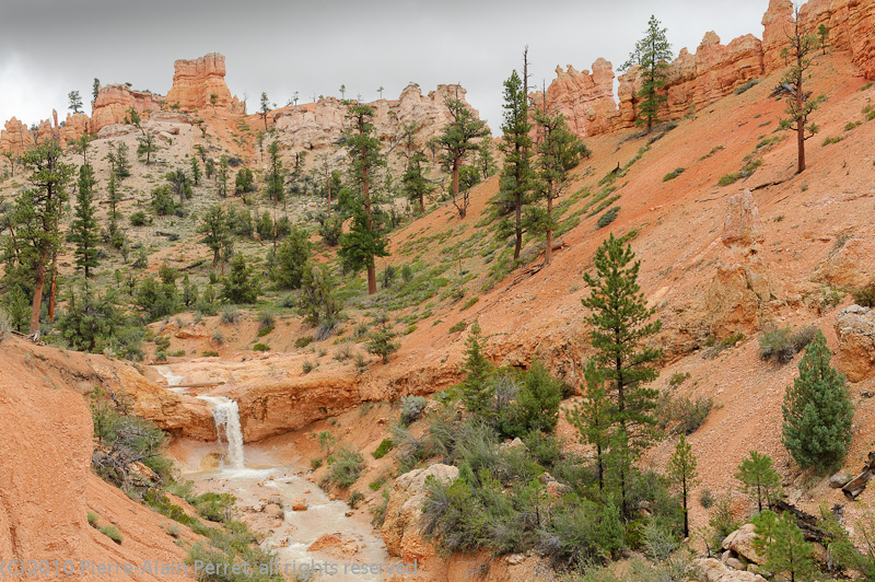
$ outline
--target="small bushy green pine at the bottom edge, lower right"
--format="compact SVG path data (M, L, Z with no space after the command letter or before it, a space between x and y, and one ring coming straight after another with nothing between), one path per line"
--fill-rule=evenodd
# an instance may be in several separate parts
M761 551L766 558L762 568L775 574L789 574L790 582L810 580L815 572L814 546L805 542L793 514L775 516L767 510L757 517L754 532L757 552Z

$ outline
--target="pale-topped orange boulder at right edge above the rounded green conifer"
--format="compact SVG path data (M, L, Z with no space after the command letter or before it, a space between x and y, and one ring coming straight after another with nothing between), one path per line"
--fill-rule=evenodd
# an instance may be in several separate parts
M835 360L851 382L872 375L875 369L875 312L851 305L836 314L836 336L839 349Z

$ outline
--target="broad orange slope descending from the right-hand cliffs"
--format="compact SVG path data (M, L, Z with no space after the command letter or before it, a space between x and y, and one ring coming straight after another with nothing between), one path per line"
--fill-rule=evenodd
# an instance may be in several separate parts
M522 278L521 271L512 271L488 292L479 291L486 279L481 273L466 284L465 300L438 306L430 317L418 322L417 329L404 338L395 361L376 366L363 383L407 380L407 389L436 389L439 386L417 385L416 371L439 362L456 364L466 334L451 333L451 328L474 319L479 319L499 363L527 365L537 357L569 382L579 382L578 371L588 353L585 312L580 303L587 293L582 273L592 267L593 253L608 233L634 231L631 245L642 261L642 291L664 323L658 342L666 350L666 368L657 385L672 389L670 376L689 372L691 379L677 391L712 396L719 404L690 439L703 467L704 484L712 489L728 488L734 468L750 449L773 454L788 469L789 459L780 444L780 403L783 388L796 373L797 360L780 369L761 362L758 331L771 321L782 326L814 324L836 350L836 314L851 303L845 291L875 275L875 123L866 121L861 113L875 96L875 89L855 77L854 70L845 53L816 58L813 89L816 94L824 93L827 102L813 116L821 131L807 141L808 170L802 175L794 175L793 136L775 131L784 107L769 98L780 78L775 72L747 92L728 95L692 118L679 120L676 129L650 144L616 181L614 194L619 198L611 206L621 210L614 223L597 229L597 218L583 212L580 224L561 237L568 246L555 255L549 267ZM849 123L853 127L845 129ZM631 136L632 130L626 130L585 140L594 153L575 171L569 193L586 188L592 194L575 201L564 217L583 208L600 190L598 181L617 162L628 164L646 146L646 138ZM821 146L827 137L842 140ZM748 155L752 155L749 160L762 160L756 172L719 186L722 176L748 163ZM685 171L677 178L663 181L678 167ZM740 210L733 212L730 202L744 189L754 190L759 216L758 221L752 213L748 216L748 224L738 222ZM477 187L472 211L465 221L457 219L452 207L415 221L393 237L393 255L378 268L408 263L418 252L420 258L440 260L440 244L411 243L428 240L450 248L444 254L454 258L451 247L462 248L462 270L477 269L481 258L464 251L476 236L474 225L482 220L495 190L497 178ZM751 224L761 234L746 238ZM447 233L446 238L439 236ZM529 248L537 244L530 243ZM745 269L750 272L747 279ZM838 305L831 303L832 289L841 298ZM479 300L464 309L471 295ZM707 354L709 344L736 334L744 334L738 348L714 359ZM845 370L859 364L840 363ZM871 392L873 383L868 376L852 385L858 409L847 461L851 472L858 469L872 442L868 419L873 407L861 395ZM672 446L674 443L666 441L654 458L664 457ZM867 491L864 498L873 494ZM804 496L802 501L804 504Z

